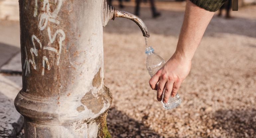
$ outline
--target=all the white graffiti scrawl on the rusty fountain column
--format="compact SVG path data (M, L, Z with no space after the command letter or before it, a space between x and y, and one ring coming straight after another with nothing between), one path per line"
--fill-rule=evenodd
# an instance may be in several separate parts
M35 0L34 17L38 16L38 3L37 2L38 2L38 0ZM43 31L47 27L48 21L59 25L60 21L57 20L57 17L58 17L58 13L61 10L63 0L55 0L54 3L51 3L50 0L41 0L41 2L43 2L43 7L41 8L41 11L43 11L43 12L40 13L38 16L39 30ZM50 4L56 5L56 9L54 11L51 11ZM58 29L52 36L50 27L47 28L47 31L48 31L50 43L53 43L56 40L56 38L59 38L59 39L57 39L59 49L55 48L55 47L44 46L43 50L49 50L49 51L55 52L56 57L57 57L56 62L57 62L57 65L59 65L61 50L62 50L62 42L64 41L64 39L66 37L65 33L63 30ZM59 37L57 37L57 35ZM30 73L30 63L32 64L32 66L35 70L37 69L34 55L38 56L38 49L36 48L35 40L36 40L36 42L39 43L40 48L42 48L42 43L40 42L40 40L36 37L36 35L32 35L33 47L30 49L32 59L28 59L27 49L25 47L26 59L24 61L24 65L23 65L23 69L26 68L25 76L27 75L27 72ZM43 56L43 60L42 60L43 69L42 69L42 74L41 74L42 76L44 76L44 73L45 73L45 64L47 65L47 69L50 70L51 69L50 62L46 56Z

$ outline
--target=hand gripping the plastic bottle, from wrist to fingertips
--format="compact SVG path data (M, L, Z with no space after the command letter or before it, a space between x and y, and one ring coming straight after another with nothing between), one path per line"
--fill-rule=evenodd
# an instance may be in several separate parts
M170 95L174 97L178 93L181 83L188 76L190 69L191 60L175 53L149 80L150 87L157 90L157 100L162 100L164 90L163 103L168 102Z

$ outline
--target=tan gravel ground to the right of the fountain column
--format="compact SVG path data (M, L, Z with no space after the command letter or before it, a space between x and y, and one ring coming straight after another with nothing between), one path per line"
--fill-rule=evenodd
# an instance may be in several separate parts
M134 13L124 2L118 10ZM140 18L150 45L166 61L176 49L185 3L157 2L161 17L142 3ZM107 116L113 138L256 137L256 5L211 20L179 94L182 104L165 110L148 84L145 39L132 21L116 18L103 29L105 85L113 94Z

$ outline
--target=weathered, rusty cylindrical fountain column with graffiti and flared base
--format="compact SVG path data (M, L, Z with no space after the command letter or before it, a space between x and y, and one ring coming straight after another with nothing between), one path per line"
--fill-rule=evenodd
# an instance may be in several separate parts
M19 0L25 138L106 137L105 0Z

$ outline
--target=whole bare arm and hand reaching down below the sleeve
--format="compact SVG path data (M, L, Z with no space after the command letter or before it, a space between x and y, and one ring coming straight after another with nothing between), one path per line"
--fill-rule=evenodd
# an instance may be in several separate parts
M176 51L149 80L151 88L157 90L158 101L162 100L164 89L164 103L167 103L170 95L174 97L177 94L181 83L190 72L192 57L213 15L214 12L202 9L187 0L184 22Z

